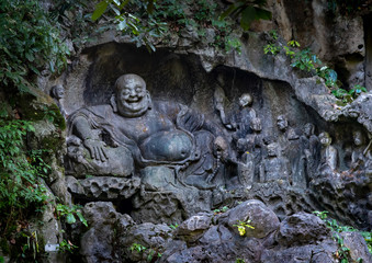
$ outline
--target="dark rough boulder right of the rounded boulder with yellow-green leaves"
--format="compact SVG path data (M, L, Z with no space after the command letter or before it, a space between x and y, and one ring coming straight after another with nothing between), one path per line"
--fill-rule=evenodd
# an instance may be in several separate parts
M326 224L315 215L297 213L286 217L280 225L277 241L281 247L312 244L329 238Z

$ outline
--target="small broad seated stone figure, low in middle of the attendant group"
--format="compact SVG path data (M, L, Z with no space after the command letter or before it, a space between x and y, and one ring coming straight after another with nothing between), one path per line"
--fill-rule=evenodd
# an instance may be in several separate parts
M278 142L268 145L268 159L260 167L260 181L270 182L277 180L289 181L289 161L279 156Z

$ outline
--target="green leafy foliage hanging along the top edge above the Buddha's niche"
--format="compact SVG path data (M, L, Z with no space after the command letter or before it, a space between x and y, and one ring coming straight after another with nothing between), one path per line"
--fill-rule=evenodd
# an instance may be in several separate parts
M215 37L212 45L226 52L240 52L240 41L233 32L235 22L228 15L241 15L241 25L248 30L250 21L269 19L271 13L261 8L266 0L238 2L219 15L221 7L210 0L103 0L97 4L92 20L109 13L113 18L109 22L131 35L137 46L146 45L151 52L157 39L167 42L171 32L180 33L183 28L193 28L201 38L207 28L213 28Z

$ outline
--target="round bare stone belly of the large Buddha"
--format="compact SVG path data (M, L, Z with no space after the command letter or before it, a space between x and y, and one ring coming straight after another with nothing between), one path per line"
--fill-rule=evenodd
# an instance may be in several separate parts
M142 156L147 160L182 161L188 159L193 150L192 138L182 130L159 132L140 146Z

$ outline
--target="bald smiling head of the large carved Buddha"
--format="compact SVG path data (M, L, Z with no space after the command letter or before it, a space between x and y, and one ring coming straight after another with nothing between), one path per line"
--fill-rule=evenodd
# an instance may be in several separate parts
M116 99L119 113L123 116L140 116L149 106L146 83L136 75L125 75L117 80Z

